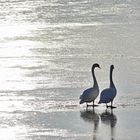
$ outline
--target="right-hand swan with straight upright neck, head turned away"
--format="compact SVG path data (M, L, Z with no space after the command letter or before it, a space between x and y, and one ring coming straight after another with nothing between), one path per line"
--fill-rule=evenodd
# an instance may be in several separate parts
M110 66L110 87L104 89L100 94L100 103L106 103L106 107L113 107L113 100L117 94L117 89L113 83L112 74L113 74L114 65ZM111 102L111 106L108 106L107 103Z

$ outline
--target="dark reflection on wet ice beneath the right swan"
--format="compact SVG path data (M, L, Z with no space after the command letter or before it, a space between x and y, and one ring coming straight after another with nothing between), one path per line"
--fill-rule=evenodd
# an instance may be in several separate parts
M117 123L117 117L116 115L113 114L113 110L111 109L111 111L106 110L105 112L103 112L101 115L101 122L109 125L110 126L110 130L111 130L111 140L114 140L115 138L115 126Z

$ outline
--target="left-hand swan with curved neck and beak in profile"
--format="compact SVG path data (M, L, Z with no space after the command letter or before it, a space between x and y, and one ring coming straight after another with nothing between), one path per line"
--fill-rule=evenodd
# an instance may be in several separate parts
M87 103L90 103L90 102L93 102L93 107L96 106L94 105L94 100L99 95L99 87L98 87L98 83L94 74L94 69L96 67L100 68L99 64L97 63L93 64L92 69L91 69L93 81L94 81L93 87L86 89L83 92L83 94L80 96L80 104L86 103L87 107L88 107Z

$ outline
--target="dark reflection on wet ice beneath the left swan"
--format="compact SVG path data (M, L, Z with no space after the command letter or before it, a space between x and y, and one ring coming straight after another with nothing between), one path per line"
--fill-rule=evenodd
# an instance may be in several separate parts
M93 129L93 140L96 140L96 134L99 126L99 115L95 112L95 110L88 110L81 111L81 118L85 122L93 123L94 129Z

